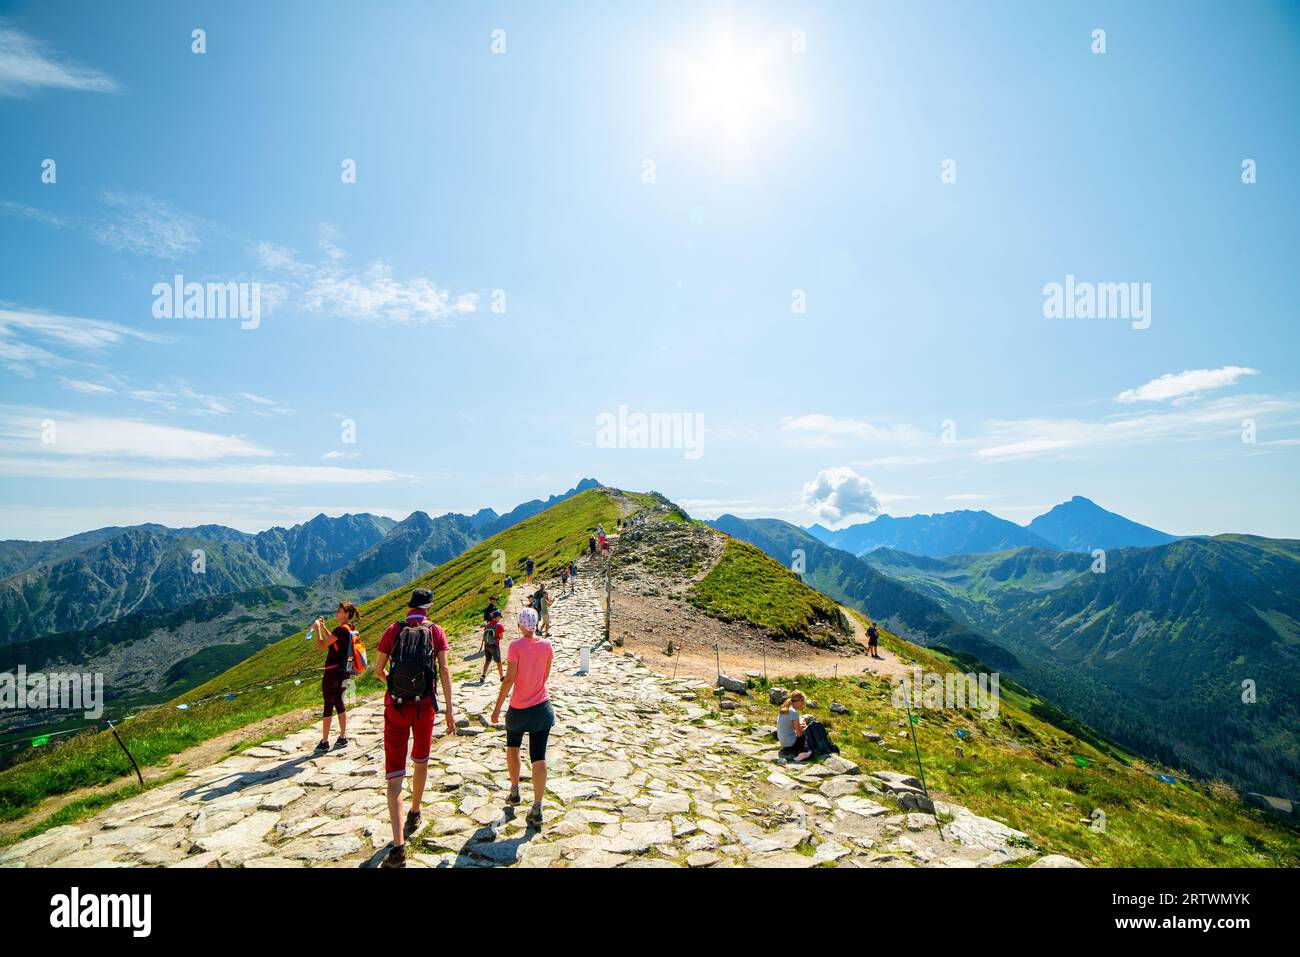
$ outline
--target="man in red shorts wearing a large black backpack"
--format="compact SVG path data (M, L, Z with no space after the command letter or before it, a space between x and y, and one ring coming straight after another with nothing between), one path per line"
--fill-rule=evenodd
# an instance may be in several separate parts
M393 849L384 858L384 867L406 867L406 839L420 830L420 798L429 774L433 719L438 714L436 685L439 679L447 700L447 735L456 733L456 719L451 713L447 636L429 620L430 605L433 593L426 588L415 589L406 619L394 622L384 632L374 661L374 675L387 689L384 692L384 778L389 789ZM408 742L415 775L411 781L411 811L406 815L403 827L402 781L406 778Z

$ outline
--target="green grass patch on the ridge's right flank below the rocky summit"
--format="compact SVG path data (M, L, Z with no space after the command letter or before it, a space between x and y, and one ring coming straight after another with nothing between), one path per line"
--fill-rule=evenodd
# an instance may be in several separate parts
M728 538L718 564L686 593L724 622L748 622L785 638L852 633L838 606L753 545Z

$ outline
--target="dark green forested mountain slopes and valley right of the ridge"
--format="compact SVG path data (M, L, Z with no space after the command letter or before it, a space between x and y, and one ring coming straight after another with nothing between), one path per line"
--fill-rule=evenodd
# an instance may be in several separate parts
M1180 538L1112 547L1098 566L1041 546L858 558L783 521L711 524L1167 766L1269 793L1300 785L1300 542Z

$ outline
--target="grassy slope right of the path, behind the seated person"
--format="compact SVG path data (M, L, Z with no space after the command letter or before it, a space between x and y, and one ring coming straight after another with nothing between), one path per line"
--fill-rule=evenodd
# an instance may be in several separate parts
M881 644L927 672L970 670L888 632ZM797 687L816 701L815 715L866 771L916 774L906 713L893 706L885 679L798 676L774 684ZM849 714L829 714L832 702ZM755 723L772 722L766 696L742 709ZM1044 853L1108 867L1300 866L1294 823L1247 807L1228 788L1166 784L1140 763L1126 766L1122 750L1014 683L1002 684L994 719L970 709L914 714L931 793L1024 831ZM881 742L868 741L864 731L881 735Z

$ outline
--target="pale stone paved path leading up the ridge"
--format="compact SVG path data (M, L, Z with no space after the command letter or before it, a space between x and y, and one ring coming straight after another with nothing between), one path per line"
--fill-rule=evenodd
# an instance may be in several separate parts
M902 775L878 778L838 757L779 762L768 728L703 707L710 690L698 681L659 676L618 649L593 650L578 675L580 649L602 627L588 571L552 610L559 724L545 824L526 828L526 804L516 813L504 801L504 735L488 724L494 670L485 685L455 688L462 733L436 739L428 823L408 866L982 866L1036 856L1018 831L940 802L941 839L933 815L902 811L913 789ZM389 841L382 701L350 718L343 752L315 757L312 726L8 848L0 866L374 866Z

